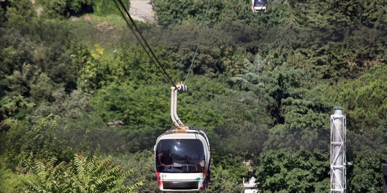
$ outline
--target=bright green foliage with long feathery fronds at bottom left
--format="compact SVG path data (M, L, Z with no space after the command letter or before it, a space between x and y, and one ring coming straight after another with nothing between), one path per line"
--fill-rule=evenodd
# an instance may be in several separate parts
M123 172L121 166L113 166L112 156L105 159L91 153L87 157L75 154L70 163L61 162L51 157L48 160L36 161L30 169L36 174L35 182L27 183L27 193L132 193L142 181L130 186L123 185L127 176L135 168ZM56 165L57 164L57 165Z

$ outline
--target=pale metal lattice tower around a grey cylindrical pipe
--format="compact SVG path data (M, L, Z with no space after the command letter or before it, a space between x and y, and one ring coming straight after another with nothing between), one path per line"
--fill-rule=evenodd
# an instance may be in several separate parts
M346 192L346 115L335 107L330 115L330 193Z

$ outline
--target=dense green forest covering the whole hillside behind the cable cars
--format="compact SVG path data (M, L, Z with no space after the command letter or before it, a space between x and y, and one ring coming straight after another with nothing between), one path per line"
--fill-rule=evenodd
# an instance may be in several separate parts
M209 134L205 193L251 177L262 193L329 192L335 106L347 192L382 193L387 2L332 2L153 0L157 22L136 21L175 83L202 34L178 114ZM160 193L171 85L113 0L0 3L0 192Z

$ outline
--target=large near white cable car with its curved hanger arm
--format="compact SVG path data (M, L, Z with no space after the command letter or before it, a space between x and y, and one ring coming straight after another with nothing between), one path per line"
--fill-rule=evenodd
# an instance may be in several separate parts
M181 82L176 87L186 89ZM171 118L175 126L161 134L154 146L158 186L168 192L202 191L208 188L210 176L208 135L181 122L176 113L178 90L171 90Z

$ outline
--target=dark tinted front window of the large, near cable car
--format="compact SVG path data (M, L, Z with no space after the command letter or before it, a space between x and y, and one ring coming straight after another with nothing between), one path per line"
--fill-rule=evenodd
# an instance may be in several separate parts
M199 139L163 139L156 149L159 172L204 172L204 147Z

